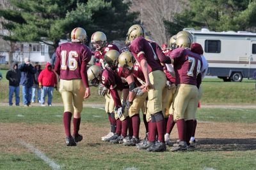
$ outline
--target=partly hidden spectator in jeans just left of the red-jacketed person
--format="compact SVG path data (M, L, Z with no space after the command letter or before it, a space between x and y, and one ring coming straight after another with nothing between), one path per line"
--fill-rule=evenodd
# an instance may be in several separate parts
M35 65L36 73L34 75L34 84L32 86L32 103L36 102L36 91L37 91L37 102L40 102L41 98L41 89L38 88L38 77L41 70L41 65Z

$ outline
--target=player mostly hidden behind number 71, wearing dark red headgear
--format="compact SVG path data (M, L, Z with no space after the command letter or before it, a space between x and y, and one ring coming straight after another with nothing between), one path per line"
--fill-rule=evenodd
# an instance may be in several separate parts
M202 68L200 70L200 74L201 74L201 77L202 77L202 80L203 80L206 73L207 73L208 66L209 66L205 57L204 57L204 50L203 50L202 46L199 43L192 43L191 52L194 52L194 53L199 54L201 56L203 65L202 65ZM198 105L199 100L202 98L202 93L203 93L202 86L200 86L200 84L198 84L197 86L199 86L199 88L198 88L198 95L196 97L196 105ZM195 107L195 109L197 109L197 107ZM191 138L190 138L190 141L189 141L189 146L191 146L191 147L195 146L195 142L196 142L195 141L196 124L197 124L197 121L196 121L196 118L195 118L193 120L193 131L192 131L192 135L191 135Z

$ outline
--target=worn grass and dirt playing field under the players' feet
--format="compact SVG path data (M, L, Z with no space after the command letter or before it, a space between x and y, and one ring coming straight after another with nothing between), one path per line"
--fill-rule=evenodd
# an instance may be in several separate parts
M62 112L62 107L0 107L0 169L51 169L20 141L42 151L61 169L256 167L256 109L198 109L196 150L177 153L148 153L100 141L109 130L108 118L101 109L89 107L84 108L81 120L84 140L67 147ZM141 121L141 137L143 132ZM171 136L177 138L176 127Z

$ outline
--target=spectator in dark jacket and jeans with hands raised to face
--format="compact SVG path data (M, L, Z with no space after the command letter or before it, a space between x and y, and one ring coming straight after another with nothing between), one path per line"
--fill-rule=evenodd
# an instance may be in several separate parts
M22 85L23 104L25 107L31 106L32 86L34 81L35 68L30 64L29 58L24 59L24 63L19 66L21 72L20 85Z

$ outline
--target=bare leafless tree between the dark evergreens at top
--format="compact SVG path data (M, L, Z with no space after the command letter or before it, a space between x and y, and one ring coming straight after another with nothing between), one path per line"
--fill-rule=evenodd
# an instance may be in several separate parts
M182 1L176 0L130 0L131 11L140 12L141 24L159 44L168 42L170 34L164 27L164 20L172 21L174 14L182 10Z

